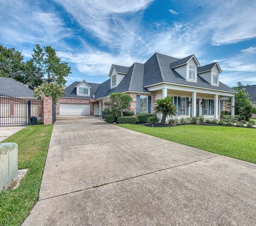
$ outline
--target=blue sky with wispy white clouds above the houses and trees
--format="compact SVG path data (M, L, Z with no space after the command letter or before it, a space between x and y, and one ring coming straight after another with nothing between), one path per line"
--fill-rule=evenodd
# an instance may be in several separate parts
M67 85L103 82L112 63L131 66L155 52L218 61L220 80L256 84L256 1L0 0L0 44L30 58L51 45L69 63Z

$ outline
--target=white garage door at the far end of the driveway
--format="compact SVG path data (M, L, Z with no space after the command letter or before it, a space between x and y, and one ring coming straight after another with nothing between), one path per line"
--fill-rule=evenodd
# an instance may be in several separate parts
M60 103L60 115L90 115L90 104Z

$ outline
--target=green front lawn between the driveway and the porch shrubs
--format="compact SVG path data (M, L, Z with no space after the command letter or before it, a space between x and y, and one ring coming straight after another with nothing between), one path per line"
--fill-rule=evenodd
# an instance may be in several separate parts
M256 163L256 130L252 128L200 125L147 127L118 124L118 126L215 154Z

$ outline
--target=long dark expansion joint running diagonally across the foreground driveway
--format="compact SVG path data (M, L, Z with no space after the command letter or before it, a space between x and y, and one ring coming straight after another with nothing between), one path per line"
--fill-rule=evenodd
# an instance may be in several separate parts
M216 158L216 157L220 157L220 156L221 155L215 155L213 157L199 159L199 160L196 160L196 161L193 161L193 162L189 162L189 163L184 163L184 164L181 164L181 165L178 165L178 166L171 166L171 167L163 168L163 169L156 170L156 171L151 171L151 172L148 172L148 173L143 173L143 174L136 175L136 176L127 177L127 178L124 178L124 179L121 179L121 180L117 180L117 181L111 181L111 182L102 183L102 184L95 185L95 186L92 186L92 187L89 187L89 188L85 188L85 189L79 189L79 190L76 190L76 191L70 191L70 192L67 192L67 193L63 193L61 195L55 195L55 196L51 196L51 197L47 197L47 198L38 199L38 201L43 201L43 200L46 200L46 199L51 199L51 198L55 198L55 197L65 196L65 195L69 195L71 193L87 191L87 190L91 190L91 189L94 189L94 188L103 187L103 186L109 185L109 184L118 183L118 182L122 182L122 181L126 181L126 180L131 180L131 179L134 179L134 178L137 178L137 177L140 177L140 176L146 176L146 175L149 175L149 174L154 174L154 173L158 173L158 172L165 171L165 170L171 170L172 168L178 168L180 166L185 166L185 165L189 165L189 164L194 164L194 163L202 162L204 160L208 160L208 159L212 159L212 158Z

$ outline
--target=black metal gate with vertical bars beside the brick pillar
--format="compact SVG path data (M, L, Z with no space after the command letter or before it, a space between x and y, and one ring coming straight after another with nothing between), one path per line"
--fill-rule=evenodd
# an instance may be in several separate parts
M0 126L43 124L43 101L0 94Z

